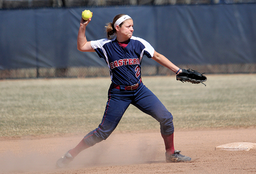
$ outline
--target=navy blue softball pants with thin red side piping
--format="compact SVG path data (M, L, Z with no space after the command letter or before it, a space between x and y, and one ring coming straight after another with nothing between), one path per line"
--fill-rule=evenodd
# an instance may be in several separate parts
M88 146L93 146L102 140L106 140L117 127L130 104L155 118L160 123L162 134L174 133L173 116L142 81L139 81L137 90L116 89L113 88L112 83L108 90L108 100L101 124L84 137L85 143Z

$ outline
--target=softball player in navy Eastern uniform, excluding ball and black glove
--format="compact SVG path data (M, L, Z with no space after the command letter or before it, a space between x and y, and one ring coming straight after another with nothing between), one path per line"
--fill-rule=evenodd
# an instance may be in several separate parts
M81 18L78 31L78 50L96 52L105 59L110 70L112 84L108 90L108 99L103 119L98 128L89 132L81 142L57 160L56 166L68 165L82 150L95 145L108 136L117 127L124 112L130 104L144 113L151 115L160 123L160 132L165 142L167 163L190 161L188 156L174 150L173 116L149 90L141 79L142 57L146 55L162 66L178 74L181 69L171 63L165 56L159 54L142 38L133 36L133 20L125 14L118 14L112 23L106 26L107 38L97 41L87 41L85 30L91 18L85 21Z

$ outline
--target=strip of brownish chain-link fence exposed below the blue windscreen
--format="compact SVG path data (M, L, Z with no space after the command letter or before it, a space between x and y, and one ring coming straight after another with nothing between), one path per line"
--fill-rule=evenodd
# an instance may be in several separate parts
M222 64L222 65L177 65L184 69L194 69L207 74L234 74L256 73L256 64ZM142 75L175 75L171 70L163 66L142 66ZM104 67L69 67L69 68L29 68L0 70L0 79L24 79L24 78L85 78L108 77L109 69Z

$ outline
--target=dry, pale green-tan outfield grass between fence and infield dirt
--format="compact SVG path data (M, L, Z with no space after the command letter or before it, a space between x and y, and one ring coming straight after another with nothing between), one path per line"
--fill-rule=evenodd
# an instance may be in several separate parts
M256 75L208 75L203 84L175 76L142 77L174 116L175 128L256 126ZM0 136L87 133L98 127L110 78L0 81ZM130 105L117 131L160 129Z

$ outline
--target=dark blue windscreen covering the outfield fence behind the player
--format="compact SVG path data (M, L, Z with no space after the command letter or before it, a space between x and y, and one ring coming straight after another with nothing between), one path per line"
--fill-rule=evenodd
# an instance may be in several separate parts
M0 69L106 66L96 53L77 50L82 11L0 10ZM133 18L144 38L175 64L256 63L256 4L90 8L87 40L105 38L116 14ZM142 65L155 65L144 57Z

